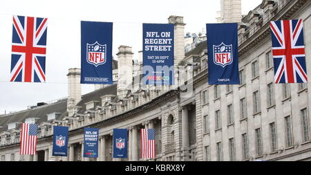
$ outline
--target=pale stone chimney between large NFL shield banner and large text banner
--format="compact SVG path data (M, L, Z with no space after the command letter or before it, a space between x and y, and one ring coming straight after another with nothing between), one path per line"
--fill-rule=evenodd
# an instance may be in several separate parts
M120 46L117 53L117 95L124 96L131 89L133 79L133 53L130 46Z

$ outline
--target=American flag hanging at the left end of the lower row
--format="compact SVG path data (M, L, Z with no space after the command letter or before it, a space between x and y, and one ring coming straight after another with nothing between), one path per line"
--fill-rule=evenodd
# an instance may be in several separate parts
M23 123L21 125L21 149L19 149L19 154L36 154L37 129L38 126L35 124Z

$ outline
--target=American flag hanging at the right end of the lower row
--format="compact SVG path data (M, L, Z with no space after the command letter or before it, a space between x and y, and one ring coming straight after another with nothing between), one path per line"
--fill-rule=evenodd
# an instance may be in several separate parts
M142 158L156 158L155 129L142 129Z

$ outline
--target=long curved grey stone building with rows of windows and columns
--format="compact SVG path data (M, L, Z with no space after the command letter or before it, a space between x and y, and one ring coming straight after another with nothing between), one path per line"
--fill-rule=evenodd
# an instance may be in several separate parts
M182 17L171 16L168 22L175 24L175 64L182 70L176 75L178 87L143 88L135 81L140 80L139 73L120 73L117 80L133 82L97 86L81 95L77 83L80 70L69 69L68 98L0 116L0 160L121 160L112 158L114 128L129 131L129 158L122 160L142 160L143 128L156 129L155 160L311 160L311 86L273 83L269 26L270 20L303 19L310 73L311 1L263 0L245 16L241 15L241 1L221 3L219 20L239 24L241 84L207 84L206 39L185 52L186 24ZM228 4L234 6L229 8ZM117 57L115 73L133 72L139 65L131 63L129 46L120 46ZM21 122L40 126L35 156L19 155ZM69 127L68 157L51 156L53 125ZM81 156L84 127L100 129L99 158Z

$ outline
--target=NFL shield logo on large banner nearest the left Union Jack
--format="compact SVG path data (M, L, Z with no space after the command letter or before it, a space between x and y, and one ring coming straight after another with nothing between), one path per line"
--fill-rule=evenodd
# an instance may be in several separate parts
M106 44L101 45L98 42L86 44L86 60L89 64L99 66L106 63Z

